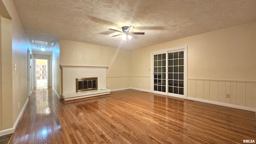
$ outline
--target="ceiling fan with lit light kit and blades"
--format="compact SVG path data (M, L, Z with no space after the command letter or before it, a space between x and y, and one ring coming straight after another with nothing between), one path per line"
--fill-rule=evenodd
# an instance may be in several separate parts
M145 34L145 32L131 32L133 29L134 29L134 26L123 26L122 32L121 32L119 30L114 30L114 29L109 28L109 30L121 32L122 34L118 34L118 35L114 35L114 36L122 35L122 40L125 40L126 44L127 44L127 40L130 40L132 38L131 34Z

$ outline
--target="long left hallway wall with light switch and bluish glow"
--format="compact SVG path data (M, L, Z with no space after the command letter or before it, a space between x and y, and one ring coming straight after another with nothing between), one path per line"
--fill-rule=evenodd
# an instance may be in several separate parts
M7 2L8 1L8 2ZM30 44L28 38L21 24L18 12L14 4L10 0L4 0L8 3L7 10L10 9L10 16L12 16L12 70L16 64L17 70L12 72L12 92L13 92L13 125L16 123L18 116L28 99L28 48ZM32 50L30 50L31 52ZM18 108L20 103L20 108Z

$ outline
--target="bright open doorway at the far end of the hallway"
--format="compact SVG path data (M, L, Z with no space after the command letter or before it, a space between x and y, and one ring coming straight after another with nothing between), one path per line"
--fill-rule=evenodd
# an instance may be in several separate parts
M47 59L36 59L36 86L48 86Z

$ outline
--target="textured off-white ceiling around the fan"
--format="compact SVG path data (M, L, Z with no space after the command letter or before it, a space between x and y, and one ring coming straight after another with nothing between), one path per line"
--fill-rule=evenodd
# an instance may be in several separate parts
M255 0L13 0L29 41L136 49L256 20ZM122 26L134 26L127 45ZM32 45L36 53L38 48ZM46 50L49 52L51 48ZM40 52L40 51L39 51Z

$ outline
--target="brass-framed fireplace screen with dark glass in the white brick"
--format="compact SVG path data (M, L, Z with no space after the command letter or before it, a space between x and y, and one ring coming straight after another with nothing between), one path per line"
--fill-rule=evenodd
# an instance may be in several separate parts
M76 92L97 89L98 78L76 78Z

